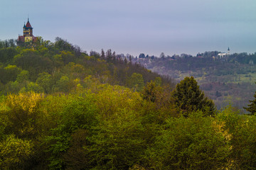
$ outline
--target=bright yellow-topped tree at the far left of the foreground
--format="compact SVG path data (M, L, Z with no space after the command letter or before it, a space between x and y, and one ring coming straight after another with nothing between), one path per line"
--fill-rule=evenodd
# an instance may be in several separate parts
M9 133L28 138L38 135L41 131L38 122L43 119L43 115L38 112L38 104L43 97L44 94L34 92L9 94L6 97L4 105L9 109L3 111L3 115L8 118Z

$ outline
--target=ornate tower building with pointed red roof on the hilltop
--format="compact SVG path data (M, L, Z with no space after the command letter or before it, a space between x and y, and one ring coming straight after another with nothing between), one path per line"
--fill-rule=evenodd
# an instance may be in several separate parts
M23 26L23 35L18 36L18 45L21 45L23 42L36 42L36 37L33 36L33 28L31 26L31 23L29 23L29 18L28 22L24 23Z

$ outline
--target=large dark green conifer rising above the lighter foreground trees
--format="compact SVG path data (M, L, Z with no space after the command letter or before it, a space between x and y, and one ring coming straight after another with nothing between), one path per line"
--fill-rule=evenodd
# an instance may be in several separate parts
M176 107L183 111L184 116L198 110L203 111L204 115L215 115L213 101L204 96L193 77L185 77L178 83L173 91L173 96Z

